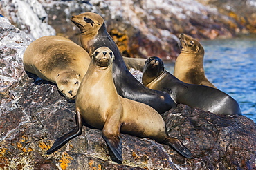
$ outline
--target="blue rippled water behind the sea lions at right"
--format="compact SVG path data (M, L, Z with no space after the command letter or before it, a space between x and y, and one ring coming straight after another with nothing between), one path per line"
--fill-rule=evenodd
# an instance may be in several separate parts
M205 75L237 100L242 114L256 123L256 37L200 41L205 49ZM174 63L164 62L173 73Z

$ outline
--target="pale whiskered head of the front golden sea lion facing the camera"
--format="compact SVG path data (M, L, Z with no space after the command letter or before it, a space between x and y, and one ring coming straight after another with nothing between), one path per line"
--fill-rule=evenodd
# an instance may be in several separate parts
M93 52L91 59L95 65L104 69L113 63L115 56L108 47L99 47Z

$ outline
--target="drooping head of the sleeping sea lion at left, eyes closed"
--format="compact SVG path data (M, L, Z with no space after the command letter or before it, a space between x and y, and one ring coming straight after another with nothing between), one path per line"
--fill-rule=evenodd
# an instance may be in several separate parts
M57 75L56 83L59 91L67 100L74 100L81 83L81 77L77 72L61 72Z

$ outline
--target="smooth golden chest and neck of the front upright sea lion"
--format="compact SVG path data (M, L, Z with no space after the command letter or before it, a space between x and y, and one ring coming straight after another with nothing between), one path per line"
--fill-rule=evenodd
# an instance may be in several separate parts
M77 92L76 108L89 125L103 128L107 116L120 107L115 93L113 78L109 70L89 67Z

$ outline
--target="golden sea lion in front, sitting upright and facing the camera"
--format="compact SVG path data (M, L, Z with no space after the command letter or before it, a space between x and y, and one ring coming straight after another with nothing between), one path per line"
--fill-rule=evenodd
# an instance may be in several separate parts
M114 59L115 56L108 47L95 50L89 70L77 92L75 103L77 127L57 139L47 154L53 153L68 140L80 135L83 119L86 124L102 129L102 137L120 161L122 161L120 132L152 138L156 142L170 145L185 158L192 158L188 148L178 139L168 136L163 118L155 109L118 95L112 78Z

